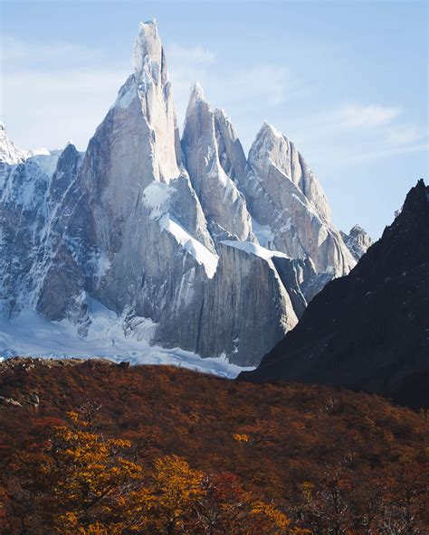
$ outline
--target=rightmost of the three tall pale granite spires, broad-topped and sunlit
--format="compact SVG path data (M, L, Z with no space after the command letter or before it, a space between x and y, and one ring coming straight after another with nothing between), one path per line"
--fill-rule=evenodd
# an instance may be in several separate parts
M290 258L310 258L315 272L326 274L316 286L310 285L313 291L355 265L330 221L329 203L319 181L295 145L267 122L253 142L238 183L259 239Z

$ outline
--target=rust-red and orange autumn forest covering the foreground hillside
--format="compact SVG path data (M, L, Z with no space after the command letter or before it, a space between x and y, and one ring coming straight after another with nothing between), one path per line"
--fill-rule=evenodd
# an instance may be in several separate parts
M2 533L429 530L423 411L160 366L0 371Z

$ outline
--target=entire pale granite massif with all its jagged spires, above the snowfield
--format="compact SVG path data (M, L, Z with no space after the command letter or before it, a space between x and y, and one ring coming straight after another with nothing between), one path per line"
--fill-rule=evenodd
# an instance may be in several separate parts
M1 314L85 337L99 302L129 336L255 365L354 261L286 138L263 127L247 161L195 86L180 141L155 22L132 60L85 154L31 155L0 132Z

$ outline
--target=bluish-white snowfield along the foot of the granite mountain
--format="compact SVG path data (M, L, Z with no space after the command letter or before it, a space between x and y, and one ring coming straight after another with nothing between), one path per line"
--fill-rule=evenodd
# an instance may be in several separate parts
M76 327L67 320L49 322L34 311L26 311L14 320L0 319L0 360L15 355L59 359L102 357L131 364L183 367L230 379L243 370L253 370L253 367L231 364L226 358L202 359L179 348L151 346L148 338L155 324L150 320L140 318L135 335L126 336L117 314L97 302L92 302L91 307L92 323L86 338L78 338Z

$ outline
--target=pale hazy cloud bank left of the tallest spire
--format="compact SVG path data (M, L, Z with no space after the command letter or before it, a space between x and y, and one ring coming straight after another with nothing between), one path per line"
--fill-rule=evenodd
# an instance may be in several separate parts
M128 74L102 60L100 51L70 42L3 38L0 114L8 135L23 148L72 137L85 149Z

